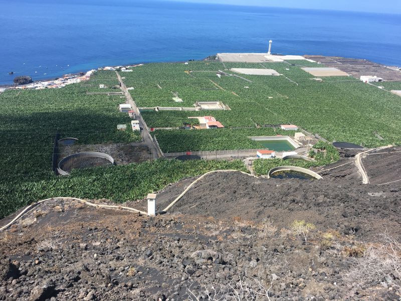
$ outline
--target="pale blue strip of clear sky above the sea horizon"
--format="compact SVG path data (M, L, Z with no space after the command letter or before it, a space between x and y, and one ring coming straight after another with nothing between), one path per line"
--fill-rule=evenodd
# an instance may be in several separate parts
M337 10L401 14L401 0L175 0L191 3L216 3L293 9Z

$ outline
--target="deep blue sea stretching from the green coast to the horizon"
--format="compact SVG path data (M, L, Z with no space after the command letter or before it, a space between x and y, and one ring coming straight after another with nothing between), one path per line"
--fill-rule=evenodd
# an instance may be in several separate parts
M0 0L0 84L18 75L39 80L107 65L266 52L270 39L274 53L401 66L401 15L150 0Z

